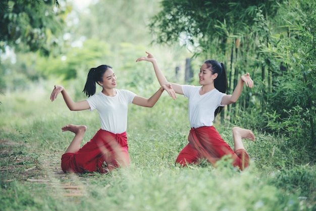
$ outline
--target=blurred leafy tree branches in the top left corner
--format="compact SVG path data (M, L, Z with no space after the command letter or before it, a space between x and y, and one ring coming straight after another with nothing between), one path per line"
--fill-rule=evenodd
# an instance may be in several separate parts
M54 1L58 7L58 1ZM12 0L0 4L0 49L10 46L15 51L40 50L49 55L58 46L65 10L54 7L52 0Z

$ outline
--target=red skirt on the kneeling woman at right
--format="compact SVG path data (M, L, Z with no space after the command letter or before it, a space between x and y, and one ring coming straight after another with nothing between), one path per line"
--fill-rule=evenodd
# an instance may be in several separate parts
M233 166L241 170L249 165L249 156L244 149L236 151L223 140L215 127L192 128L188 136L189 143L179 153L176 163L196 164L200 159L207 159L209 163L216 166L216 162L226 154L231 154Z

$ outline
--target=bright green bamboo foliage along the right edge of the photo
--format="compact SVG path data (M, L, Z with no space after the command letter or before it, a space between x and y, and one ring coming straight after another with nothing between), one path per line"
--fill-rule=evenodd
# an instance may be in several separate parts
M287 5L284 15L290 34L272 37L272 44L263 48L273 72L273 92L268 93L267 130L283 134L293 147L306 146L313 151L316 141L316 71L313 1L297 1ZM298 15L300 14L300 15ZM307 15L308 14L308 15ZM280 64L283 66L280 70ZM313 153L310 153L314 157Z

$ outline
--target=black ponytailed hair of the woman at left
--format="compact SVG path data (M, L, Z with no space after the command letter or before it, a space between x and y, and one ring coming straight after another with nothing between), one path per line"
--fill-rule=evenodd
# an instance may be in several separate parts
M87 82L84 85L84 92L88 97L95 94L96 91L96 84L98 81L103 82L102 77L104 73L109 69L112 68L108 65L100 65L97 68L91 68L88 72Z

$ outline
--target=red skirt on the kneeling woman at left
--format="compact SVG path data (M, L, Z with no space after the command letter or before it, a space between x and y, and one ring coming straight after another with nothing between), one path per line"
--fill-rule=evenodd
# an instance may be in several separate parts
M62 156L62 170L65 173L108 173L129 163L126 132L114 134L101 129L76 153Z

